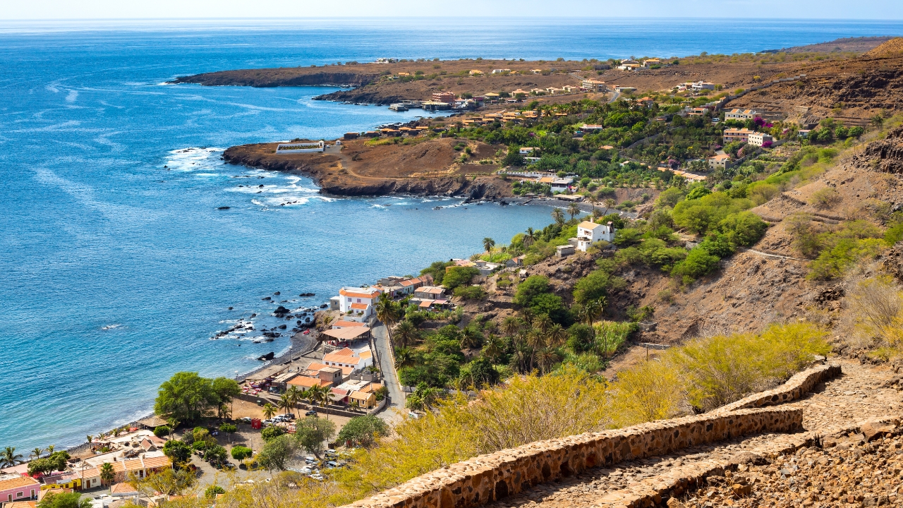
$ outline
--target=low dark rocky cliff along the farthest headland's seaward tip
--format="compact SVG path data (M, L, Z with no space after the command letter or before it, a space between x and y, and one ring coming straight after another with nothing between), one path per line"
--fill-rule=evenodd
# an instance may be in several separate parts
M206 86L240 87L305 87L305 86L353 86L366 85L377 74L344 71L301 72L297 69L249 69L245 71L219 71L184 76L172 83L196 83Z

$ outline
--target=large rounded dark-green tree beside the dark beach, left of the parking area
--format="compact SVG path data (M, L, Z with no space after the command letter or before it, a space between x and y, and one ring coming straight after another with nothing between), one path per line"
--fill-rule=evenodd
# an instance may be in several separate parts
M154 412L183 422L198 421L210 407L219 408L219 397L209 379L198 372L176 372L157 391Z

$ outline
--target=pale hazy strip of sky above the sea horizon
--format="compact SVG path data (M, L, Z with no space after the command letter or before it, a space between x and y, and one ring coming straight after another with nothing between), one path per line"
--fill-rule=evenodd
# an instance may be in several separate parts
M903 19L903 0L0 0L2 20L345 16ZM742 30L742 25L733 27Z

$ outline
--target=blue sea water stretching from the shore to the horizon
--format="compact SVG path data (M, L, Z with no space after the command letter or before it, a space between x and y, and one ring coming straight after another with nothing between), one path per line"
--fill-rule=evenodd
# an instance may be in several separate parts
M340 136L417 112L313 101L329 91L322 88L164 81L378 57L680 56L903 33L896 22L753 20L744 31L724 23L0 27L0 446L75 445L145 414L172 372L255 368L257 355L284 349L287 339L209 337L271 310L261 298L275 291L276 300L319 304L341 285L415 273L479 250L483 237L506 241L549 221L544 207L334 199L305 178L224 165L228 146Z

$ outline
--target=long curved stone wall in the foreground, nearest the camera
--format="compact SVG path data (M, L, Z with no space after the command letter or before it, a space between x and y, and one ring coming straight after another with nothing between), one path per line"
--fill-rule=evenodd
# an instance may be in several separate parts
M446 466L348 506L479 506L592 467L666 455L732 437L790 432L802 427L802 409L738 409L550 439Z

